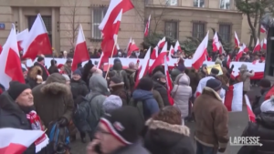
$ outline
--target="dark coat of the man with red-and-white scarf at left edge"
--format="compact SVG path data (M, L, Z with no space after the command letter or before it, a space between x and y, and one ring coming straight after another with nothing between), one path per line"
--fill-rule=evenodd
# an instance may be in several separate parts
M0 96L0 128L20 128L31 130L26 114L16 105L7 92ZM31 145L23 154L35 154L36 147Z

